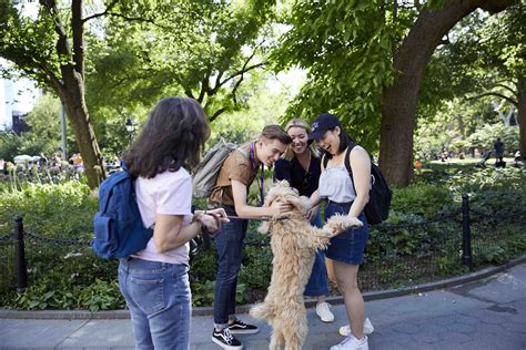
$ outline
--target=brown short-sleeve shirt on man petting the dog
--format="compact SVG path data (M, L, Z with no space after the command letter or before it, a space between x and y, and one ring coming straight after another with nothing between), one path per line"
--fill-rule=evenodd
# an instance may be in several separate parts
M250 154L250 143L240 146L246 154ZM234 195L232 193L232 179L250 187L255 178L250 156L245 157L241 152L233 151L229 154L221 167L218 182L210 196L211 203L234 206Z

